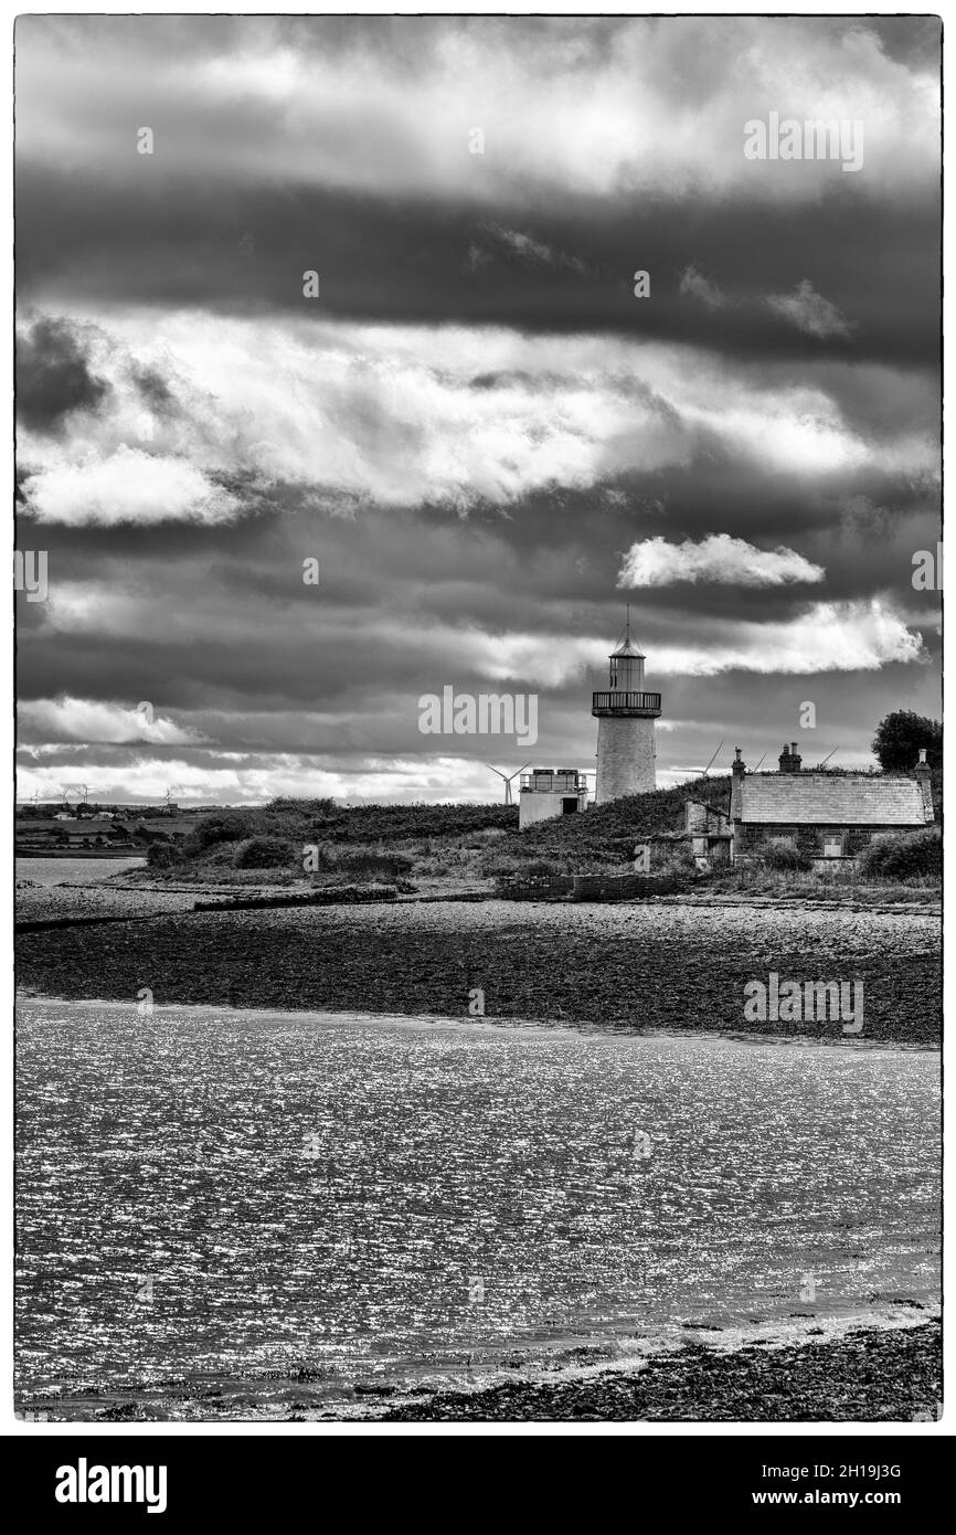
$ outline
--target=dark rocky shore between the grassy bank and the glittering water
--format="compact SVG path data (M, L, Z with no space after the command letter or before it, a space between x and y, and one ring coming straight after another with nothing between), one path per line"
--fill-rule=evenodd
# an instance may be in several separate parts
M17 939L28 995L124 1001L149 985L158 1004L468 1018L471 993L480 992L482 1016L502 1022L836 1044L939 1039L939 919L922 910L399 901L167 909L149 921L34 929ZM859 982L862 1030L844 1036L832 1019L747 1021L744 985L770 972L781 981Z

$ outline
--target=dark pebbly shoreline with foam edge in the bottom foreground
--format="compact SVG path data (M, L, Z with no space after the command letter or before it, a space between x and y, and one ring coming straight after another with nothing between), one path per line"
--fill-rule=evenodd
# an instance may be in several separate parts
M457 1358L405 1360L401 1378L384 1362L350 1380L290 1362L15 1395L18 1411L74 1423L919 1421L942 1401L938 1306L741 1329L686 1323L683 1335L568 1339L522 1357L532 1348L499 1340Z

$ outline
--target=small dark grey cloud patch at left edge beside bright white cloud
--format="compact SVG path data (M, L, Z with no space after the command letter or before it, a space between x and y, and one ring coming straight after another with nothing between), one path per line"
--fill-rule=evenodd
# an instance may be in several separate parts
M95 410L109 394L89 365L84 332L68 319L37 319L17 345L17 416L58 431L72 410Z

